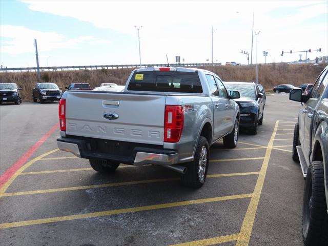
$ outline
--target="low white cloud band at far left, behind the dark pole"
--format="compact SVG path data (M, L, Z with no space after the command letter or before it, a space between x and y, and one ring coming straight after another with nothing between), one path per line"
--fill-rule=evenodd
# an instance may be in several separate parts
M56 32L41 32L23 26L0 25L2 40L1 53L24 54L34 53L34 38L37 39L38 51L77 48L80 44L105 44L105 39L92 36L67 38Z

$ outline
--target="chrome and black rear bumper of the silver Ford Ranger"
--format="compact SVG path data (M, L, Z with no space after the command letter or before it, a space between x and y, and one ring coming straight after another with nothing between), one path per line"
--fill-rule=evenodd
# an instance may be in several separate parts
M166 150L151 147L137 147L133 143L133 148L130 150L130 155L124 155L120 151L104 151L98 150L100 144L93 144L93 139L89 138L57 138L57 146L60 150L70 152L77 157L87 159L106 159L128 165L142 166L148 164L156 165L174 165L178 163L178 153L174 150ZM98 139L98 141L111 141L105 139ZM117 142L119 145L121 142ZM128 145L129 143L126 143ZM93 145L93 146L92 146Z

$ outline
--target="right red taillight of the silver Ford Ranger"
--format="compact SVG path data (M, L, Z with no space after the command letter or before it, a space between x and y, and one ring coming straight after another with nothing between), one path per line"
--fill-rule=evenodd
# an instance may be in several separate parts
M165 106L164 141L178 142L183 129L183 108L181 105Z

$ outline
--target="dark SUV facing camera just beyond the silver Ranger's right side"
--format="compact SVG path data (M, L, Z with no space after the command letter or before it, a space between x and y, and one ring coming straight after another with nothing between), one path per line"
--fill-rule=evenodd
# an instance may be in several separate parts
M239 91L240 98L235 99L240 109L240 127L257 134L257 126L263 124L264 99L255 83L224 82L228 91Z

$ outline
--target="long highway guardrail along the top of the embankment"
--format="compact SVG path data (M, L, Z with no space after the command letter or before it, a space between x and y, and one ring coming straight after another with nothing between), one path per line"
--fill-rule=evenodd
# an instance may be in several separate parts
M198 67L198 66L211 66L211 63L179 63L170 64L171 67ZM214 63L214 66L219 66L221 63ZM167 67L167 64L142 64L141 68L147 67ZM119 68L138 68L139 64L130 65L91 65L91 66L60 66L60 67L40 67L40 71L64 71L64 70L97 70L97 69L119 69ZM0 72L36 72L37 67L29 68L0 68Z

